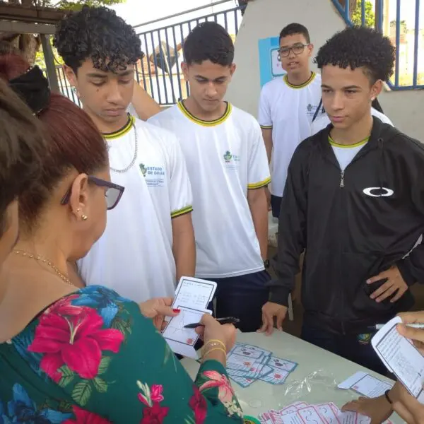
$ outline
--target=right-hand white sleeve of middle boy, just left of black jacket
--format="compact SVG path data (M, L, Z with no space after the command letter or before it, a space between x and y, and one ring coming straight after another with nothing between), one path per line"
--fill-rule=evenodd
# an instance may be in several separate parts
M266 156L266 149L264 139L262 138L261 127L256 121L252 131L250 131L252 142L249 151L249 168L247 175L247 188L260 189L265 187L271 182L269 174L268 158Z

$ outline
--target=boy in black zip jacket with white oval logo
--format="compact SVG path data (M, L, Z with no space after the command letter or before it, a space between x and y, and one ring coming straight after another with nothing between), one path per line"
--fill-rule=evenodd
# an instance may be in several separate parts
M303 141L288 170L278 227L278 281L263 314L281 328L302 270L302 338L377 372L370 326L413 305L424 281L424 149L371 116L391 76L394 47L346 28L319 49L331 124ZM278 304L276 306L276 304Z

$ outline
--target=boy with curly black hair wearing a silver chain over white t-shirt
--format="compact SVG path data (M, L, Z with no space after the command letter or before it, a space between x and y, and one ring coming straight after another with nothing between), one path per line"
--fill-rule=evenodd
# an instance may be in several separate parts
M177 279L194 275L192 192L176 137L126 112L140 39L114 11L84 6L61 20L54 46L109 145L112 181L125 187L105 233L78 261L81 278L136 302L173 296Z

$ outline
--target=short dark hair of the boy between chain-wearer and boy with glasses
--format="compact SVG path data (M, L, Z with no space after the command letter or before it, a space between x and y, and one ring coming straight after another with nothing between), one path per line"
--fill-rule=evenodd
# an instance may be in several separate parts
M187 65L209 60L213 64L230 66L234 60L232 39L216 22L203 22L193 28L184 41L183 51Z

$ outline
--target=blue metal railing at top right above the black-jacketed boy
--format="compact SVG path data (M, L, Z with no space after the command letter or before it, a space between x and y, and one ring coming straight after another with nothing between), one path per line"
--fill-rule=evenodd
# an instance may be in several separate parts
M382 33L384 33L384 24L387 25L389 16L384 16L384 9L386 11L389 8L387 4L384 4L384 1L389 0L375 0L375 10L373 11L375 16L375 28ZM420 28L420 0L415 1L415 15L414 15L414 28L413 30L408 30L405 28L401 20L401 6L402 0L396 1L396 20L395 20L395 34L392 37L390 33L391 23L388 23L389 34L391 38L394 38L394 44L396 46L396 61L394 76L391 81L387 81L387 84L391 90L416 90L424 89L424 28ZM408 4L411 4L411 0L408 1ZM344 0L341 4L341 0L332 0L334 6L341 14L347 25L355 25L352 20L352 11L349 6L352 5L351 0ZM358 0L356 3L357 11L360 10L360 23L361 25L366 25L367 22L367 3L372 4L369 0ZM405 4L405 3L404 3ZM369 18L369 17L368 17ZM386 31L387 32L387 31ZM410 46L411 38L408 37L408 34L413 32L413 71L411 72L402 72L402 66L404 69L407 67L407 61L411 60L408 57L401 58L401 48L408 49L408 44ZM420 47L421 39L421 47ZM410 49L411 50L411 49ZM406 56L406 54L405 54ZM403 80L403 81L401 81Z

